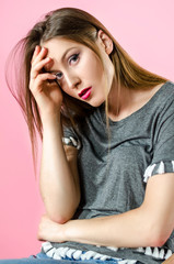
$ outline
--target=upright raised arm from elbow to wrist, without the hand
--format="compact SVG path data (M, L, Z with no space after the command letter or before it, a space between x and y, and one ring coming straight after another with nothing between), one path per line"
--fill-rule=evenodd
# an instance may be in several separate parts
M77 148L62 146L59 117L43 121L40 194L47 215L56 222L71 219L80 201Z

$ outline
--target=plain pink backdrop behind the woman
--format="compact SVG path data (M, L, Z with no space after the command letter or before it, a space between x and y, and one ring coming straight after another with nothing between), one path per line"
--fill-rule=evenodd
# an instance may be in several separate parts
M144 68L174 81L173 0L1 0L0 2L0 258L37 253L44 211L27 127L4 81L10 50L44 13L76 7L94 14Z

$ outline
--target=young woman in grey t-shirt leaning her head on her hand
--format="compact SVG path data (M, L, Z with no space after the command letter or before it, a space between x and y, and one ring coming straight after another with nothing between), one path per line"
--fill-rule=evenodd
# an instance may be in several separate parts
M20 47L15 97L33 153L36 130L43 140L46 242L18 263L164 262L174 252L174 84L79 9L50 12Z

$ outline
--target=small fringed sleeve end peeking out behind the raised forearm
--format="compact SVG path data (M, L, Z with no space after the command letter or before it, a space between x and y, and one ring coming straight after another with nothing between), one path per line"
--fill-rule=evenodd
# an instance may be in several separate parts
M81 142L78 138L78 134L72 128L63 128L62 143L65 145L72 145L78 150L81 147Z

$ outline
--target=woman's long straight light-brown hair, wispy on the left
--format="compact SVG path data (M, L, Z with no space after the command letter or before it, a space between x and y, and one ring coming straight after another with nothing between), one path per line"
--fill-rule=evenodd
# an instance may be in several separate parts
M61 36L90 47L102 62L100 51L95 43L100 30L107 34L114 44L109 58L115 67L118 95L123 85L130 89L141 89L144 87L151 88L167 80L143 69L134 62L107 29L88 12L74 8L62 8L49 12L40 22L34 25L34 28L27 33L26 37L16 44L9 56L10 61L8 61L7 68L7 81L9 88L20 103L27 122L34 162L36 157L36 132L38 132L40 139L43 139L43 127L39 111L31 90L28 89L31 59L35 46L39 45L40 42L46 42L55 36ZM11 78L11 73L15 73L15 81ZM76 127L81 118L88 116L93 110L94 108L88 103L63 94L63 107L60 113L61 123L67 127Z

